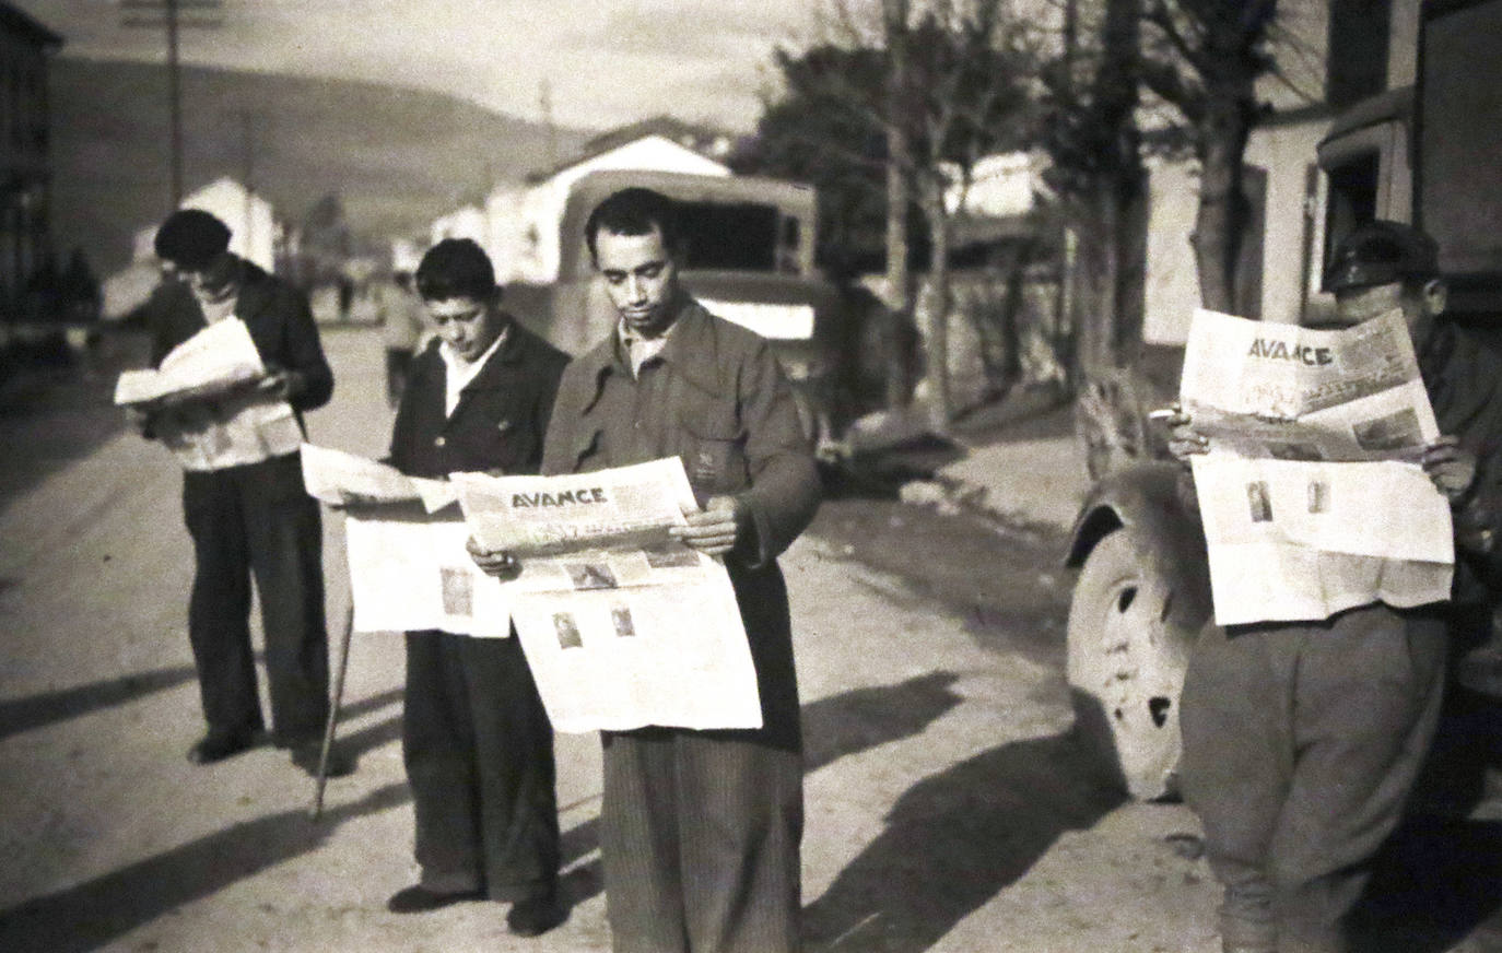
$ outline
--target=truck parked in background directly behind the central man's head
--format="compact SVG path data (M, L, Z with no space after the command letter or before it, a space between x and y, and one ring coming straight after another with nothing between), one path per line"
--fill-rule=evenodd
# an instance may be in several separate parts
M841 395L852 363L849 296L814 266L817 203L811 186L756 176L601 170L574 183L559 221L557 272L505 290L517 317L569 354L616 326L584 242L589 213L628 186L677 203L685 237L683 287L712 314L766 338L793 386L805 434L835 456L849 417Z

